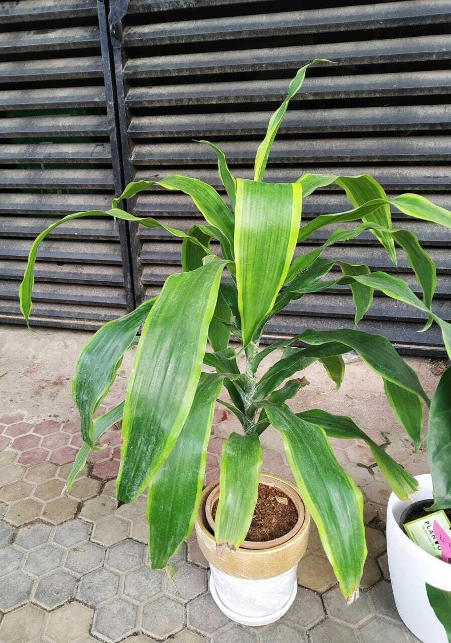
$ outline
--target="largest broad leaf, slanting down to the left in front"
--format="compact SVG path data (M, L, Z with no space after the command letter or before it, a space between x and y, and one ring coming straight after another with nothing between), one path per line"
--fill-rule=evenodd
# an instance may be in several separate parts
M226 261L166 279L148 315L128 381L118 499L131 502L172 450L188 417Z

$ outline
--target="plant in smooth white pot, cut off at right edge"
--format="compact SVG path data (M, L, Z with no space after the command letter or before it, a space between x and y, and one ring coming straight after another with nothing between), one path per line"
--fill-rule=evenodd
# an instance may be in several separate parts
M392 494L389 500L387 552L396 608L403 621L423 643L447 643L451 642L451 564L423 550L403 525L440 509L451 516L451 367L441 376L432 398L426 452L430 474L416 476L418 493L409 500ZM429 529L433 530L432 524L431 518Z

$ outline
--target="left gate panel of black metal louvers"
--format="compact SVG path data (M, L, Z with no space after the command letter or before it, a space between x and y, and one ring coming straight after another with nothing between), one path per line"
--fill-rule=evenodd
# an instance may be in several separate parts
M0 321L23 323L31 240L121 190L105 6L0 3ZM31 323L93 329L134 306L125 226L67 222L42 243Z

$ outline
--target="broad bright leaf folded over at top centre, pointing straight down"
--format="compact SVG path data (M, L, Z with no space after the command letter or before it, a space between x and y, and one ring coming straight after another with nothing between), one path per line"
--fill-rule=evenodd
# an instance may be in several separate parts
M236 179L234 249L244 347L285 282L300 220L300 185Z

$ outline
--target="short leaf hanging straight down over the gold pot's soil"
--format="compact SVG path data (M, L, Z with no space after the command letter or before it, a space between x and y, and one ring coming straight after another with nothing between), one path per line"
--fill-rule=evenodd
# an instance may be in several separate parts
M251 526L258 498L263 453L256 433L231 433L222 445L219 502L215 518L218 545L240 547Z

